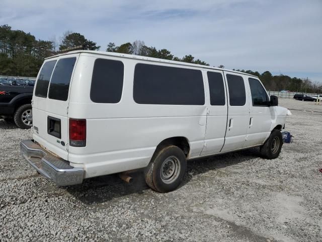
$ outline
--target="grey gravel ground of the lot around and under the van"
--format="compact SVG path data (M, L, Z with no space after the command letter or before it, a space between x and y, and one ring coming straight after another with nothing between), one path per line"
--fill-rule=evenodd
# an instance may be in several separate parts
M141 172L57 187L22 159L31 137L0 120L1 241L321 241L322 105L280 99L294 135L279 158L257 150L188 162L183 185L158 194Z

